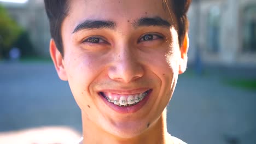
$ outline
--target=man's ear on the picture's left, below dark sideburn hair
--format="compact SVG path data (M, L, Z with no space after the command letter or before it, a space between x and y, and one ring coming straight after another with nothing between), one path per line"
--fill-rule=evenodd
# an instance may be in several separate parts
M60 79L63 81L67 81L67 74L65 70L65 63L60 51L57 49L55 41L51 39L50 41L50 55L51 59L53 59L55 69Z

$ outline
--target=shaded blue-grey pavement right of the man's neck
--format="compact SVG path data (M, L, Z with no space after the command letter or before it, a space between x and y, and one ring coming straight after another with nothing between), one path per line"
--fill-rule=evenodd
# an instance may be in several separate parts
M256 92L214 77L180 77L168 107L168 129L188 143L255 143Z

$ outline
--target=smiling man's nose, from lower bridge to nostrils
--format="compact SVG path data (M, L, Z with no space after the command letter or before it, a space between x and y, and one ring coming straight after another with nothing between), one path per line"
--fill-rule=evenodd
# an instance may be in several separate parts
M143 65L134 51L123 49L115 53L113 57L114 62L108 70L110 79L129 83L144 75Z

